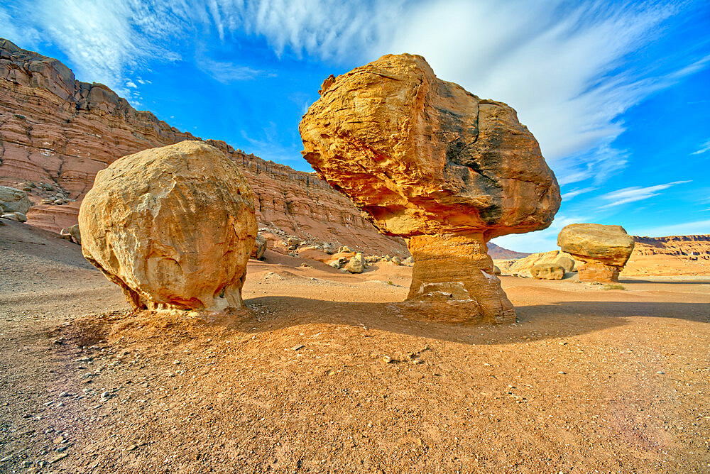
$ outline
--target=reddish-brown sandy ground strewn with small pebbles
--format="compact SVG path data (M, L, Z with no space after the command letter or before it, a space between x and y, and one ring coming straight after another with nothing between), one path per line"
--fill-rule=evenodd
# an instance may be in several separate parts
M398 313L410 271L268 253L249 314L131 315L9 222L0 472L710 472L710 277L503 277L518 323L464 326Z

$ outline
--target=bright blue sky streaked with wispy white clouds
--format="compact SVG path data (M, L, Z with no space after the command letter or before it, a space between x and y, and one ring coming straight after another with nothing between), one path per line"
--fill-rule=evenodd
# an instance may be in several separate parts
M710 233L710 4L559 0L28 0L0 36L57 57L184 131L297 170L297 125L322 80L386 53L505 101L562 185L545 230Z

